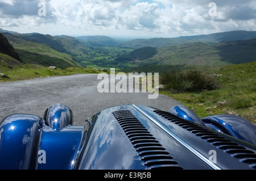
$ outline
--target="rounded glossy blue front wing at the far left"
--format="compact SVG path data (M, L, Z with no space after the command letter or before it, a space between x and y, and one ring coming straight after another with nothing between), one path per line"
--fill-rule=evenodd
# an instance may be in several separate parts
M11 115L0 124L0 169L31 169L42 119Z

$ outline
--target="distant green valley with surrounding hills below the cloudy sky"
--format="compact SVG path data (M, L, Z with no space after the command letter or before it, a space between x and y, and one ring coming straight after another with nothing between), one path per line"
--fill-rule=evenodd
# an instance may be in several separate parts
M129 41L108 36L51 36L2 29L0 32L18 53L22 63L57 66L60 69L90 67L121 70L145 65L214 66L256 60L256 32L249 31ZM2 60L5 59L4 54L0 54Z

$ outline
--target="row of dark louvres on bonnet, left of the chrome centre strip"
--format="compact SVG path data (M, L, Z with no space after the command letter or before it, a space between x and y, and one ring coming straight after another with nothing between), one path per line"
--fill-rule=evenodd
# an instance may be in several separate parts
M138 152L144 166L148 169L183 169L131 111L115 111L113 115Z

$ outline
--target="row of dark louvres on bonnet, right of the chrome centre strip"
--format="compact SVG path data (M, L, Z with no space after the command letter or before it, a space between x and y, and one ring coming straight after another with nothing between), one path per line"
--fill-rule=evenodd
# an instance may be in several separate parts
M224 150L226 153L232 155L232 157L240 159L241 162L249 164L249 166L253 169L256 169L256 154L254 151L246 149L245 147L240 146L227 138L209 131L199 124L195 124L191 121L172 115L170 112L158 110L154 112L216 146L218 149Z

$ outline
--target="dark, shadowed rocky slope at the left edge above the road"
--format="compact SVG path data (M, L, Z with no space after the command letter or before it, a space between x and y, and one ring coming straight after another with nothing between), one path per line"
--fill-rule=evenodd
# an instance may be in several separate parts
M20 63L23 63L19 54L15 52L13 46L9 43L6 37L2 35L2 33L0 33L0 53L7 54L18 60Z

